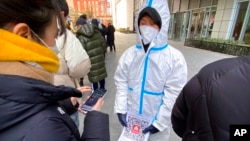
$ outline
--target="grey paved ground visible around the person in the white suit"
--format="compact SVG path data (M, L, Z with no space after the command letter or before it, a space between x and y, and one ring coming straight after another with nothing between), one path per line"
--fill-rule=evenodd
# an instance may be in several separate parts
M117 66L117 62L128 47L132 46L136 42L135 34L123 34L116 32L116 53L109 52L106 57L106 67L108 72L108 78L106 79L106 89L109 91L105 97L105 103L102 109L102 112L109 114L109 122L110 122L110 136L111 141L117 141L120 133L121 133L121 125L117 119L117 116L114 114L114 100L115 100L115 85L114 85L114 72ZM185 56L187 65L188 65L188 78L190 79L195 73L199 71L201 67L204 65L213 62L218 59L233 57L230 55L225 55L221 53L211 52L207 50L201 50L191 47L185 47L183 42L180 41L169 41L169 44L179 49L183 55ZM85 79L86 80L86 79ZM85 84L88 84L85 81ZM83 120L82 115L80 115L80 119ZM81 122L82 123L82 122ZM80 130L82 131L82 124L80 126ZM171 132L170 141L180 141L180 138L174 133Z

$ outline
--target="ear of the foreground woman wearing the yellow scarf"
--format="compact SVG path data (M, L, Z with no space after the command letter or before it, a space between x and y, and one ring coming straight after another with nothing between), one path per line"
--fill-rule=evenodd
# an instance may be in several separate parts
M12 28L12 32L16 35L27 39L33 39L30 27L25 23L18 23Z

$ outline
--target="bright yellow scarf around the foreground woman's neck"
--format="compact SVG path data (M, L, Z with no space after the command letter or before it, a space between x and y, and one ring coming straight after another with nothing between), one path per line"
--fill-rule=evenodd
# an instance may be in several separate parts
M57 72L59 60L49 48L0 29L0 61L35 62L49 72Z

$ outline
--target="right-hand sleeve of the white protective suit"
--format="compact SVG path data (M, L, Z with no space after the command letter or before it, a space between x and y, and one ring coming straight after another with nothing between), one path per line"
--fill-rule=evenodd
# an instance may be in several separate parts
M173 58L171 73L164 86L163 103L153 125L163 131L171 125L171 113L182 88L187 82L187 65L184 56L179 53Z

